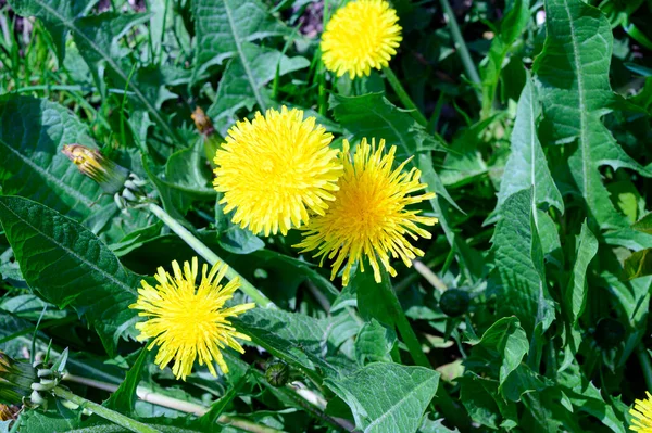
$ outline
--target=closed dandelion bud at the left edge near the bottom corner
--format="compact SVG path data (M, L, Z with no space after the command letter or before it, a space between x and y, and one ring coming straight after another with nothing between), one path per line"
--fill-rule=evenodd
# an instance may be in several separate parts
M0 352L0 403L21 404L34 382L38 382L36 368Z

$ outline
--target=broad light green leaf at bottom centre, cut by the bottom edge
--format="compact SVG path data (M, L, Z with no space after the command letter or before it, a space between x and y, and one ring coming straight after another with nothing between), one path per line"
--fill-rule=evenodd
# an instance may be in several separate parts
M437 392L439 373L423 367L379 362L328 386L351 408L355 426L365 433L416 432Z

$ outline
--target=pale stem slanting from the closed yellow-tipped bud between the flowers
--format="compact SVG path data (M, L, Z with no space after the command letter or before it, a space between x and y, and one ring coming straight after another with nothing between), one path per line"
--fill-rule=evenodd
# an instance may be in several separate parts
M161 221L163 221L172 231L177 233L179 238L181 238L188 246L197 252L200 256L202 256L208 263L214 265L217 262L223 262L222 258L215 253L211 251L203 242L197 239L188 229L181 226L176 219L170 216L165 211L163 211L160 206L154 203L150 203L148 205L149 211L154 214ZM226 271L226 278L233 280L234 278L240 279L240 290L247 293L251 300L256 303L259 306L263 308L276 308L276 305L265 296L261 291L259 291L252 283L247 281L244 277L238 273L233 267L228 266L228 270Z

